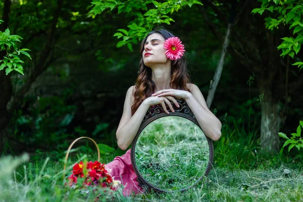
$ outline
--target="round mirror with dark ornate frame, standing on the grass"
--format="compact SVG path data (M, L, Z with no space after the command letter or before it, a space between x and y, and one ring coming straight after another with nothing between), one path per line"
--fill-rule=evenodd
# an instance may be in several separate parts
M142 188L184 191L210 172L213 144L201 130L184 99L166 114L150 107L132 142L131 160ZM167 107L167 109L169 109Z

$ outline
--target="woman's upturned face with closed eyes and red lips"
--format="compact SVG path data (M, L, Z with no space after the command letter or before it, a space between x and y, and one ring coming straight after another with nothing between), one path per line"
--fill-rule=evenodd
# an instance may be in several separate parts
M156 64L166 64L169 61L165 55L164 41L165 38L159 33L150 34L147 37L142 53L144 65L151 67Z

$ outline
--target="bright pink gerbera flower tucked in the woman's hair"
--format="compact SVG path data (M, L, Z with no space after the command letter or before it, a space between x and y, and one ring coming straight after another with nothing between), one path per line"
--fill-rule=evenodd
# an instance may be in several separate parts
M167 49L165 55L170 60L177 60L183 56L185 50L182 41L178 37L170 37L165 40L164 48Z

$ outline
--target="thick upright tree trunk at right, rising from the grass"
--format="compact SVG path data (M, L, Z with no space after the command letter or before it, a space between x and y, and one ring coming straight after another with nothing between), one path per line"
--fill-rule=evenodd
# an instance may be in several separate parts
M274 99L269 86L261 87L261 148L272 154L280 150L279 129L279 101Z

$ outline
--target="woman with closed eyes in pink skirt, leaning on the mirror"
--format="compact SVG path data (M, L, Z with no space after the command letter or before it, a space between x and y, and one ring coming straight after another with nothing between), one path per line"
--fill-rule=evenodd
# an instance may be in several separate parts
M171 38L173 37L173 38ZM117 129L118 146L125 150L131 144L150 106L162 105L174 109L170 100L177 106L174 97L184 98L193 112L205 135L213 140L221 136L221 123L208 109L199 88L189 83L189 76L182 57L184 49L181 41L167 30L156 30L147 34L141 43L140 70L135 86L131 86L124 102L124 109ZM122 157L116 157L106 165L111 174L121 180L126 187L124 195L141 192L133 170L130 149Z

